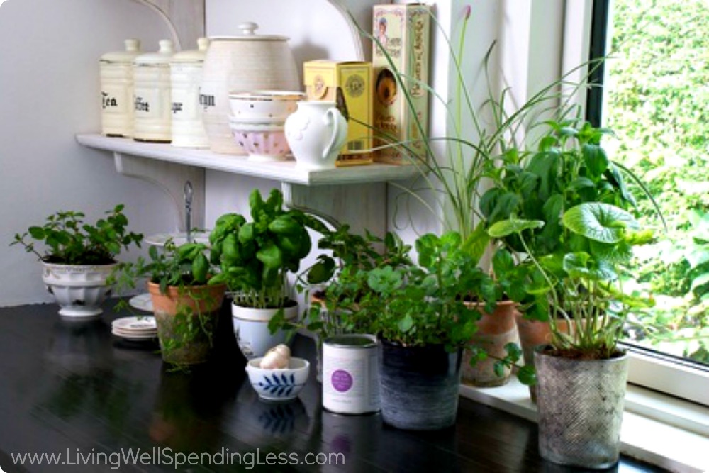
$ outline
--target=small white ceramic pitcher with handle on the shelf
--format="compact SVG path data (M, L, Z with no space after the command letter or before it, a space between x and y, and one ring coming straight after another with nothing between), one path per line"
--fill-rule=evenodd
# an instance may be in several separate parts
M305 169L333 169L347 140L347 121L331 101L298 101L285 130L297 167Z

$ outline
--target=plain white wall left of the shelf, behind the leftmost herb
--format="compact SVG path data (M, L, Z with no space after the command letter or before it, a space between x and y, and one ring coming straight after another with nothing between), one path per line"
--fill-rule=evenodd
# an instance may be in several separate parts
M0 306L51 301L14 233L57 210L92 220L123 202L133 230L172 231L177 215L150 184L122 177L74 134L100 128L99 57L125 38L157 50L168 30L129 0L7 0L0 6ZM135 257L125 255L125 257Z

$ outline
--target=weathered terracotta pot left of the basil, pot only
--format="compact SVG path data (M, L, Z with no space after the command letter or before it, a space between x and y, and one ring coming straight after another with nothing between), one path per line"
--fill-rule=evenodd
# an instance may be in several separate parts
M211 332L218 322L226 286L191 286L184 289L170 286L162 294L158 284L149 282L147 289L155 311L162 360L179 365L206 362L212 347ZM204 318L203 323L196 324L203 329L191 333L189 340L176 337L177 332L184 330L180 326L184 321L180 321L178 315Z

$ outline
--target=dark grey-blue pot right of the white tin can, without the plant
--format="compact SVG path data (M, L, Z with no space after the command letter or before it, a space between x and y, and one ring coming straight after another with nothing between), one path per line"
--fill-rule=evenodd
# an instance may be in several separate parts
M381 416L406 430L438 430L455 423L462 350L443 345L379 344Z

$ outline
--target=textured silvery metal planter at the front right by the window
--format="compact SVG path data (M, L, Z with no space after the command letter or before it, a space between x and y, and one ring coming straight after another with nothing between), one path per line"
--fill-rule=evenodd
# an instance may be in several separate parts
M535 350L539 450L546 460L603 469L620 456L628 357L574 360Z

